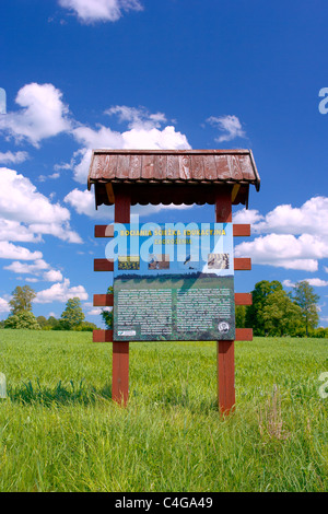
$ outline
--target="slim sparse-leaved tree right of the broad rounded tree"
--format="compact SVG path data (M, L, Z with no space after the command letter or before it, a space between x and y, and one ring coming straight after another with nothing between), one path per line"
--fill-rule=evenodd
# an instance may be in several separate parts
M306 280L302 280L294 287L293 300L301 307L306 337L308 337L308 329L315 328L319 323L317 308L319 296L315 294L313 287Z

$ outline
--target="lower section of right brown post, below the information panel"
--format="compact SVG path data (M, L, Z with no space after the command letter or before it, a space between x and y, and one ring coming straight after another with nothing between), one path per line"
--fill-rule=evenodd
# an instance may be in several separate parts
M235 406L235 350L234 341L218 341L218 402L222 414L229 414Z

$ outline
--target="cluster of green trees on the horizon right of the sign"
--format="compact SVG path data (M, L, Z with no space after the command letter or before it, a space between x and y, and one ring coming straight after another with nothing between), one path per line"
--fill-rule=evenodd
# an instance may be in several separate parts
M251 295L253 305L236 306L237 327L253 328L255 336L328 337L328 328L317 328L319 296L306 280L290 293L278 280L261 280Z

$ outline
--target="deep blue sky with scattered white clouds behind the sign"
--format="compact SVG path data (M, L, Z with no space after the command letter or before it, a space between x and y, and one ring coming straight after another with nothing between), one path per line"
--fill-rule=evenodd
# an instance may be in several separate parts
M0 317L28 283L36 315L78 295L101 324L92 295L110 277L93 272L93 226L113 209L86 191L93 148L250 148L261 189L234 213L254 265L235 289L307 279L328 326L327 14L324 0L2 0ZM133 212L214 221L210 207Z

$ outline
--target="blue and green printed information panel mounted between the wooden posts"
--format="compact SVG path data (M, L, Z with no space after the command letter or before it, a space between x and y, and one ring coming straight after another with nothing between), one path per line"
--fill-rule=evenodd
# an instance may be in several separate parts
M232 223L115 224L114 340L235 339Z

